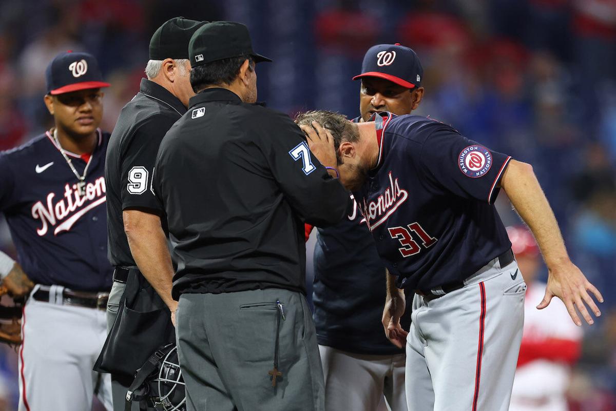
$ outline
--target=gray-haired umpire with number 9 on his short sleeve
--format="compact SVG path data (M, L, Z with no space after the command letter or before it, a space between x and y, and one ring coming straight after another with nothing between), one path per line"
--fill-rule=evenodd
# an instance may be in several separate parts
M176 17L155 31L150 40L150 60L145 68L147 79L142 79L139 93L120 112L111 134L105 182L108 255L115 271L107 305L108 330L118 315L129 275L143 275L156 290L140 291L140 295L148 296L145 303L149 309L162 308L163 316L169 316L165 307L171 313L176 309L177 303L171 298L174 269L163 229L166 226L164 210L150 191L150 185L158 145L172 124L186 113L188 99L195 95L190 86L188 41L203 24L205 22ZM162 343L157 343L156 337L148 338L154 344L152 351ZM139 366L152 354L144 346L134 349L142 358L137 358L139 355L133 352L125 355ZM124 397L133 375L112 373L115 411L124 410ZM139 404L134 402L132 409L138 410Z

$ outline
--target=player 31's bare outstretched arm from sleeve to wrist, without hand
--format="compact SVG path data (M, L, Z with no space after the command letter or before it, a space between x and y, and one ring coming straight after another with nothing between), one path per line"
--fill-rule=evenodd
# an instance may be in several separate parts
M569 261L554 212L532 166L512 160L501 180L511 204L533 232L548 268Z

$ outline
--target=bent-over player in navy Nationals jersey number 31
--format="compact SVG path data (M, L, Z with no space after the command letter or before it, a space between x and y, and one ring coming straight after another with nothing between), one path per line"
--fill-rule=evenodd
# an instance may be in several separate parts
M408 407L506 411L526 285L493 207L500 188L537 237L549 269L538 308L556 295L577 325L576 308L593 324L586 305L600 312L588 291L599 301L601 293L569 260L529 164L423 116L382 112L370 120L355 124L329 111L298 117L309 142L333 138L341 182L390 273L384 324L395 345L406 344ZM409 332L400 326L401 289L416 292Z

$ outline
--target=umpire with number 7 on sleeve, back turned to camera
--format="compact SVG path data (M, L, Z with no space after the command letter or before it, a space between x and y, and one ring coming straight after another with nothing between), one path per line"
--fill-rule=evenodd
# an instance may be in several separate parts
M163 138L153 177L179 261L188 410L323 410L303 222L338 222L349 195L288 116L254 104L255 63L271 60L246 26L201 26L189 55L198 94Z

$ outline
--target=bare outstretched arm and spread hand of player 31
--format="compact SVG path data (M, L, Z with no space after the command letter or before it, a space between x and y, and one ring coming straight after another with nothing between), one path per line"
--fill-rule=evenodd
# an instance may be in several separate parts
M548 266L548 286L543 301L537 308L546 308L552 297L556 296L565 303L575 324L582 325L575 311L576 307L586 322L593 324L593 318L588 313L586 305L595 316L600 316L601 311L588 291L593 293L601 303L603 297L569 259L561 230L558 228L554 213L541 190L532 166L511 160L501 179L501 187L509 196L517 213L535 235L546 266Z

